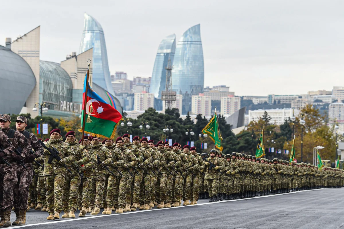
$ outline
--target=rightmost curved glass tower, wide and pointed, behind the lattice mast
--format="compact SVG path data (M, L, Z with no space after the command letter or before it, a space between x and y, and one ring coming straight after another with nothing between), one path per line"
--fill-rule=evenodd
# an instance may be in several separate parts
M200 24L189 28L177 43L173 70L172 89L183 95L183 111L191 111L191 95L198 95L204 88L204 60Z

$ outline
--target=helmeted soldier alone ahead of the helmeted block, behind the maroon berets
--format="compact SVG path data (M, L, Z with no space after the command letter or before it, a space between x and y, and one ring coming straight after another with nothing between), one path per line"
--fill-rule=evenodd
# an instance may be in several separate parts
M208 192L210 200L209 202L214 202L215 196L217 196L218 181L219 181L219 171L225 169L225 165L222 160L216 157L217 150L212 149L209 152L209 162L204 162L205 164L205 176L204 179L207 181ZM212 163L212 165L210 164Z

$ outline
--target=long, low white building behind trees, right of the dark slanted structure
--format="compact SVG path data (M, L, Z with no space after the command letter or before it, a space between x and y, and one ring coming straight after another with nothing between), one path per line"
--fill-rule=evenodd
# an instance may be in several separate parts
M271 124L275 125L282 125L285 120L288 120L290 117L293 116L293 109L291 108L283 108L283 109L268 109L268 110L254 110L248 111L248 123L252 121L258 121L261 117L263 117L264 112L267 112L268 115L271 117ZM294 115L297 116L299 114L299 110L294 110Z

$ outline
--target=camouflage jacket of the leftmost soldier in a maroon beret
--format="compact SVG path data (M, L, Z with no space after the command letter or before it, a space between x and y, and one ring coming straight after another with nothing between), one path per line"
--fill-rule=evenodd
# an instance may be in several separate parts
M61 159L64 159L66 163L72 162L75 160L75 154L74 152L69 148L69 145L65 143L60 137L60 139L50 139L48 140L45 145L48 148L53 148L55 147L56 150L59 152L58 156L60 156ZM47 175L54 175L56 173L66 173L66 169L58 164L58 161L54 158L51 161L51 164L48 163L49 158L50 158L50 152L46 149L44 149L43 153L43 160L44 160L44 171L43 174L45 176Z

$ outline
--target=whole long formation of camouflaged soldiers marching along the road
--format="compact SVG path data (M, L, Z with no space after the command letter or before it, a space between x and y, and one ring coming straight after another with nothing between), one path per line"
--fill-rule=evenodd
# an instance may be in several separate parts
M24 225L30 208L47 211L47 220L196 205L320 187L342 187L341 169L256 158L217 149L148 140L129 134L115 141L60 129L37 139L27 119L0 115L0 226ZM80 144L82 142L82 144ZM17 219L10 222L11 209ZM104 209L101 212L101 209Z

